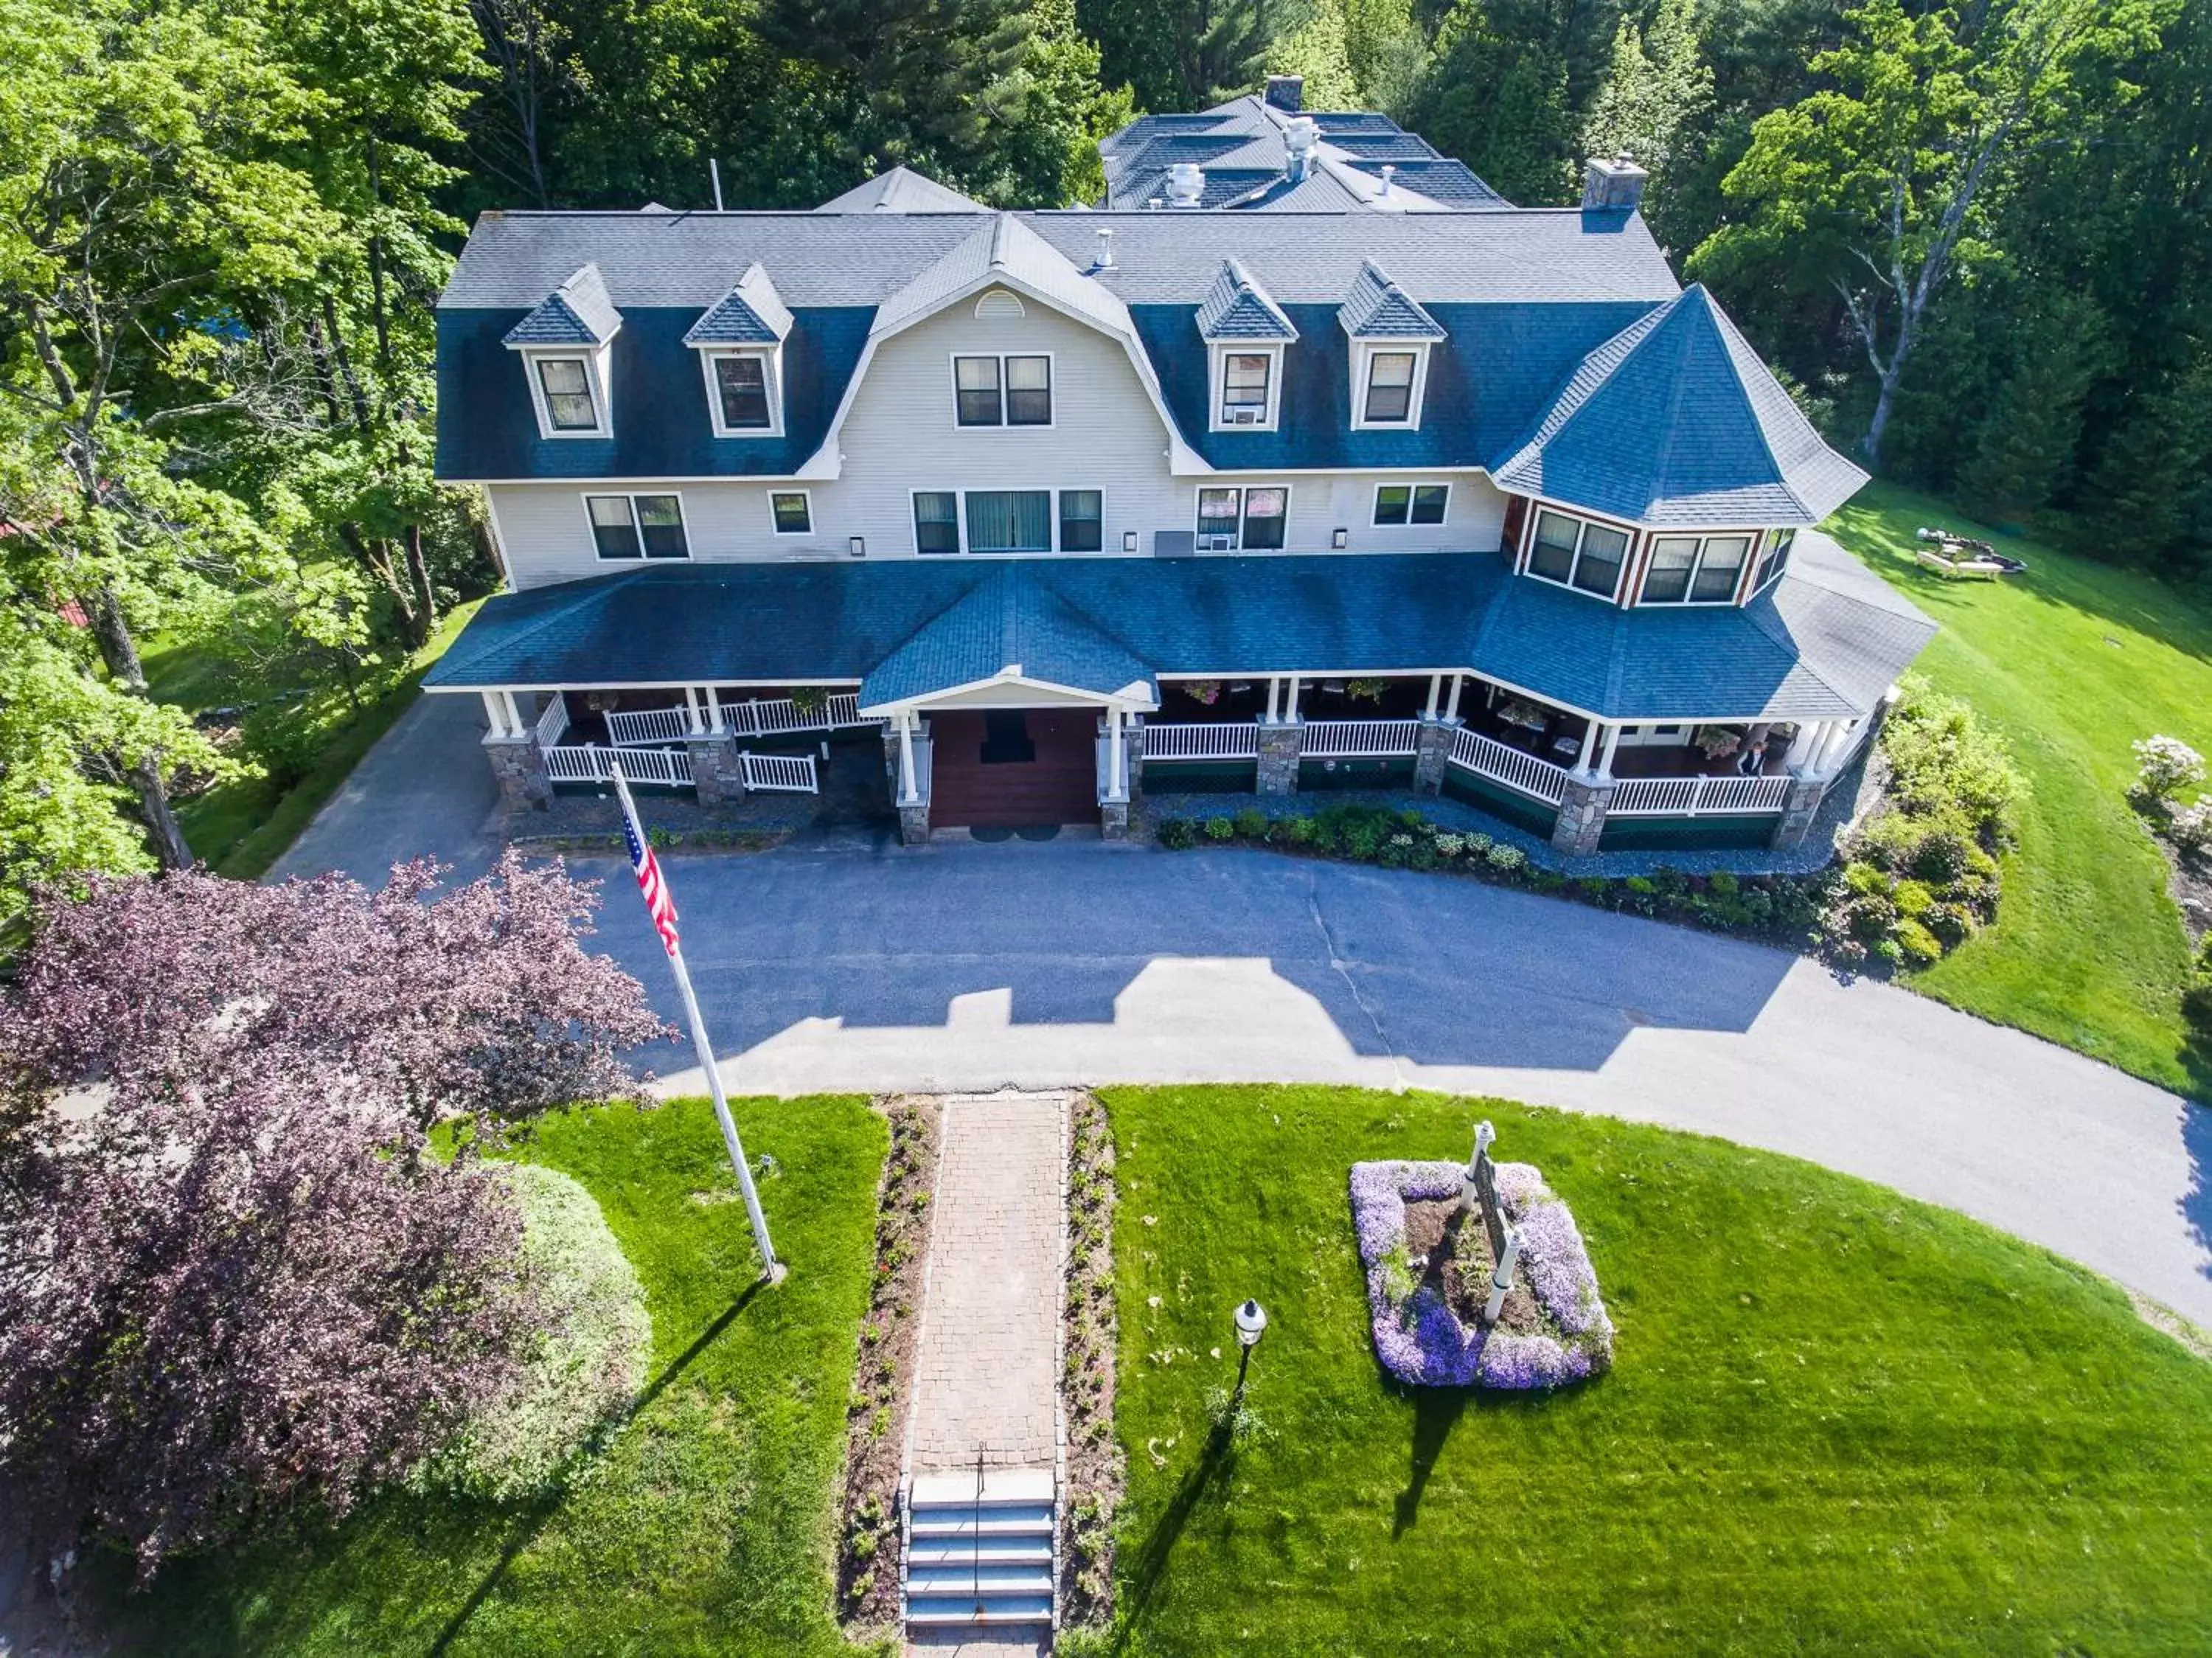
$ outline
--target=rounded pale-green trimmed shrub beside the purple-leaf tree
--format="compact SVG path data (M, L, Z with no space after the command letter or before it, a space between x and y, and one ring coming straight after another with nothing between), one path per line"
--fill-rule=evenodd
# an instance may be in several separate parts
M522 1209L522 1257L542 1333L515 1381L478 1410L416 1483L498 1503L555 1485L593 1432L646 1384L653 1319L622 1244L582 1184L557 1169L507 1164Z

